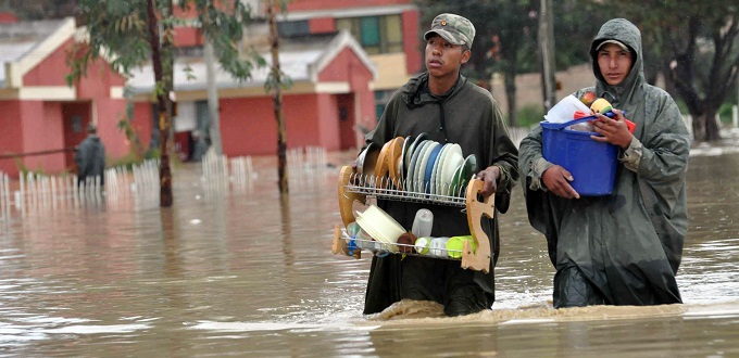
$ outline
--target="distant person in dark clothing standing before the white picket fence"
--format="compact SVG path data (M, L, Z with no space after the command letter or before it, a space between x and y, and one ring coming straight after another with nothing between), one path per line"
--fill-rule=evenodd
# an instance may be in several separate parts
M98 128L91 123L87 125L87 138L75 150L74 161L77 163L79 186L89 188L98 177L100 186L105 184L105 146L98 137Z

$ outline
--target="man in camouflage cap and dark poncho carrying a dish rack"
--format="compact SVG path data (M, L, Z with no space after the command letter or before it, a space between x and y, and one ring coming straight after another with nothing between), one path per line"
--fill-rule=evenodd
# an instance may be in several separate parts
M501 110L489 91L468 81L461 66L472 54L475 27L465 17L440 14L424 35L426 72L411 78L390 99L366 144L380 148L398 138L456 143L465 156L479 163L480 195L494 196L498 213L505 213L511 189L518 180L517 149L509 137ZM354 163L355 165L355 163ZM466 214L459 207L378 200L378 206L410 230L421 208L431 210L431 236L468 235ZM423 256L375 255L365 295L364 314L381 312L401 299L436 302L447 316L489 309L494 301L493 268L498 259L498 215L483 219L490 240L489 273L463 269L459 260Z

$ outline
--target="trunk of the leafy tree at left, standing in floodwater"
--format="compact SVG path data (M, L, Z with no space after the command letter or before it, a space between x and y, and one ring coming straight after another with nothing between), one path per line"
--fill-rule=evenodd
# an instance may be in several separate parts
M149 43L151 46L151 62L154 68L154 81L156 92L156 113L159 120L160 142L159 148L161 152L159 164L159 181L160 181L160 206L172 206L172 170L170 168L170 153L167 142L170 139L170 131L172 130L172 104L170 102L170 90L172 89L172 75L168 80L165 71L172 72L172 56L167 56L166 44L160 42L159 21L156 20L155 0L147 0L147 25L149 28ZM168 1L168 0L167 0ZM164 43L170 42L168 36L164 36ZM168 66L163 65L163 60L168 60ZM168 84L167 84L168 82Z

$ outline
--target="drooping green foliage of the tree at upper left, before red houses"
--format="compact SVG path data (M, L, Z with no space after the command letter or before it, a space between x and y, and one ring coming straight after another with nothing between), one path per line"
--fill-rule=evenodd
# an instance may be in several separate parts
M171 1L156 1L160 7L160 24L165 28L162 37L167 40L174 37L174 33L167 28L184 23L170 13ZM129 76L134 68L149 61L151 47L146 0L78 0L77 4L80 17L87 25L89 39L87 44L77 46L70 55L72 73L67 76L68 84L85 76L89 62L100 56L107 59L112 68L124 76ZM178 1L178 5L197 14L189 23L202 26L202 31L213 43L222 67L235 78L250 78L254 64L263 63L262 59L253 57L255 52L251 53L252 57L245 59L240 55L242 25L250 21L249 7L243 2L185 0ZM162 65L164 73L172 67L171 61L164 61ZM163 91L161 85L156 87L156 91Z

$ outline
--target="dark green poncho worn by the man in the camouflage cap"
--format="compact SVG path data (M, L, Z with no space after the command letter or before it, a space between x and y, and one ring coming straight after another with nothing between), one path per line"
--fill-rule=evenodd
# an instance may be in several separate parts
M458 143L463 155L475 154L480 169L491 165L501 167L502 178L496 193L496 207L505 213L511 201L511 190L518 180L517 149L509 138L508 127L503 120L498 103L490 92L467 81L460 76L454 88L443 95L435 98L427 90L428 74L412 78L397 91L379 119L377 127L366 136L367 143L380 146L397 138L428 135L429 139L439 143ZM406 202L381 201L383 207L406 230L411 230L416 212L426 207L434 213L431 236L452 236L469 234L466 214L460 207L426 205ZM484 229L491 240L494 257L490 272L498 258L499 236L497 216L484 222ZM375 257L367 287L365 314L381 311L387 306L401 299L394 279L398 276L389 260L397 260L400 255L386 258ZM380 263L385 260L385 263ZM477 272L478 282L487 292L493 292L493 276Z

